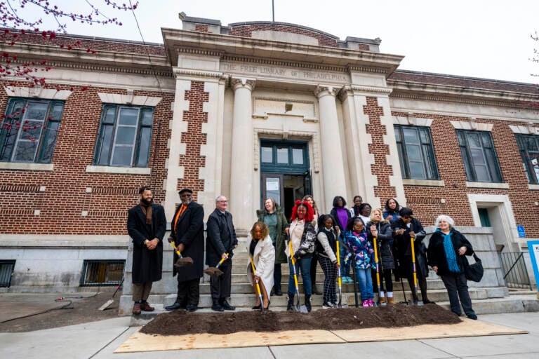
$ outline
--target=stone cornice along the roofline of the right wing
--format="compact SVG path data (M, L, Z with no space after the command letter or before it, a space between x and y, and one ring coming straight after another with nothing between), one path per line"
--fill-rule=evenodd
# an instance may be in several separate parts
M409 81L388 80L393 89L391 97L411 100L458 102L481 106L524 107L526 102L537 102L539 96L512 91L463 88L451 85L432 85Z

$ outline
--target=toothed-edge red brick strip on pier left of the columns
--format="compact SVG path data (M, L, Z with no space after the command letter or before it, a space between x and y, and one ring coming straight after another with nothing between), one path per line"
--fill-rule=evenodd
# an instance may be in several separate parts
M207 134L202 132L202 124L208 122L204 102L209 100L209 93L204 92L204 82L191 81L190 90L185 91L185 100L189 102L189 110L183 111L187 131L182 132L185 154L180 155L180 165L185 170L183 178L178 179L178 189L189 187L193 190L193 200L197 201L197 194L204 192L204 179L199 178L199 170L206 167L206 156L200 154L201 144L206 144L207 140Z

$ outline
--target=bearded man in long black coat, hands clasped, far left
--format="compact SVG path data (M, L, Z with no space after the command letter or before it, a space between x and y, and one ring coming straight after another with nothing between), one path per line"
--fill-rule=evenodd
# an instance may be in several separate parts
M152 283L161 280L165 210L153 203L152 189L138 190L140 202L128 210L127 231L133 239L133 314L154 311L147 302Z

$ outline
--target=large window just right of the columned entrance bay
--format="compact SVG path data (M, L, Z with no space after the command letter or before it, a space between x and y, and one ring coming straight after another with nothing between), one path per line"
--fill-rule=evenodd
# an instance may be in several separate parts
M430 128L395 125L402 176L406 179L439 179Z

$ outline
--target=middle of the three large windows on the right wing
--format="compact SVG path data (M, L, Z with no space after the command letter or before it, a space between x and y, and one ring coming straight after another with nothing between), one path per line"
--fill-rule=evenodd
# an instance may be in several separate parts
M470 182L503 182L489 132L457 130L460 154Z

